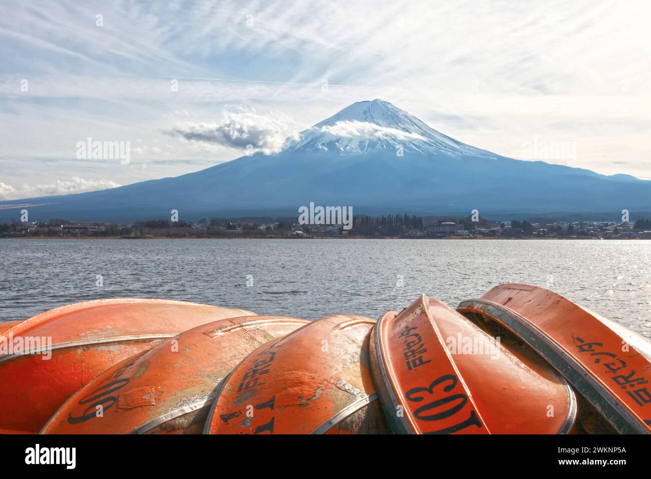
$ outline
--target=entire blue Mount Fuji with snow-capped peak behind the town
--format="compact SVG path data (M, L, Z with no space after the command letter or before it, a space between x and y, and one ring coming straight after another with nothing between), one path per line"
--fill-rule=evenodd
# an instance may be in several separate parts
M179 177L119 188L0 202L0 220L133 222L210 216L298 216L352 206L355 214L651 211L651 181L506 158L430 128L389 102L354 103L286 141Z

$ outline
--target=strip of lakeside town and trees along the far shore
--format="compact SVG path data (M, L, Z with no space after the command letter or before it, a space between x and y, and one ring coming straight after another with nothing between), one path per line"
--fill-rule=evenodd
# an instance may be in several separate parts
M202 218L197 222L139 220L133 224L49 222L0 224L0 238L439 238L439 239L651 239L651 220L555 222L389 214L355 216L350 229L299 224L298 218Z

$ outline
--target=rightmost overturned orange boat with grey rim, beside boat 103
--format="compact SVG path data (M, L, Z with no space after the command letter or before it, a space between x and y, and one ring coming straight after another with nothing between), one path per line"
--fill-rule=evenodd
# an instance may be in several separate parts
M463 301L467 317L514 332L620 433L651 432L651 341L547 289L503 284Z

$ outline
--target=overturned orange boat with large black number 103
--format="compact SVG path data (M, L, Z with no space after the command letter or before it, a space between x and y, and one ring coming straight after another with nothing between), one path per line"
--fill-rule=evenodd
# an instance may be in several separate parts
M576 402L535 354L425 295L373 330L371 366L395 433L568 433Z

